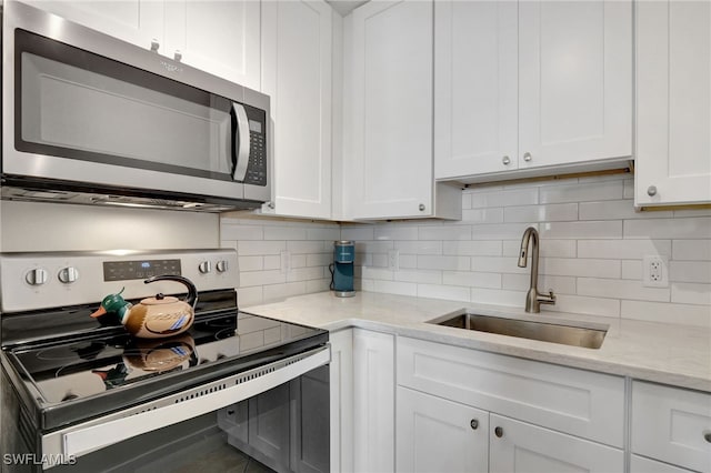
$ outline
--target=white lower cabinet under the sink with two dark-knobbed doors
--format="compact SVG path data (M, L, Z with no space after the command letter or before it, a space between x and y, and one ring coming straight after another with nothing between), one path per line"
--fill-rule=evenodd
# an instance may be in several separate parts
M624 471L624 379L404 336L397 353L397 471Z

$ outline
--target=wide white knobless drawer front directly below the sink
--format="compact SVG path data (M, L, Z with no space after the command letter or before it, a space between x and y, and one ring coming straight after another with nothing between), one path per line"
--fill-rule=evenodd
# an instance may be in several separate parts
M533 424L623 445L624 380L398 339L398 384Z

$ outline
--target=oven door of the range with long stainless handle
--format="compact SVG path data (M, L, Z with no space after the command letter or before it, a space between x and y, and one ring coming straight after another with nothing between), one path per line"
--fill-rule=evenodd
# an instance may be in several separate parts
M329 471L330 349L41 436L6 466L61 472ZM38 452L37 449L29 449ZM7 456L7 455L6 455Z

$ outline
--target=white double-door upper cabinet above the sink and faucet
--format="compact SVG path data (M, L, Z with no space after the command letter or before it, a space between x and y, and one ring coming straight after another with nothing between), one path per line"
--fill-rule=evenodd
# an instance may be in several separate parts
M435 2L435 38L438 179L631 157L631 1Z

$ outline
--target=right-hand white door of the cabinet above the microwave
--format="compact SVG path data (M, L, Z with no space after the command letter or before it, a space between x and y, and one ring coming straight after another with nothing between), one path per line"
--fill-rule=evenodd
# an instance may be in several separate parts
M259 90L260 2L166 2L166 49L182 54L186 64Z

